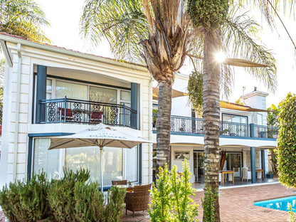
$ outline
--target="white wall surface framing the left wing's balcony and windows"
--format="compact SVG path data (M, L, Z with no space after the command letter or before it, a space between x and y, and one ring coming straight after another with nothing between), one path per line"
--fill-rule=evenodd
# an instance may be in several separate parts
M30 43L28 43L30 44ZM130 83L139 84L139 136L150 139L152 137L152 77L148 71L140 66L129 65L114 61L110 63L100 62L100 58L86 59L88 56L69 56L63 53L46 51L41 48L33 48L30 45L21 46L21 83L19 88L19 103L16 103L18 53L16 43L7 45L11 51L13 67L6 65L6 81L4 88L4 125L3 125L3 148L0 162L0 185L14 181L14 179L26 179L28 160L28 133L38 132L63 132L61 128L51 125L31 124L31 102L33 98L33 71L36 65L46 65L58 70L56 74L63 76L65 71L72 70L72 78L87 78L89 81L100 82L98 76L110 85L127 86ZM46 46L50 49L54 48ZM69 53L68 51L66 51ZM96 60L98 59L98 60ZM109 61L109 60L108 60ZM112 61L112 60L111 60ZM50 69L49 69L50 70ZM63 70L64 72L61 72ZM83 73L88 73L83 77ZM54 72L53 72L54 74ZM69 77L69 75L67 74ZM19 112L17 110L19 109ZM16 115L19 117L18 132L16 132ZM49 125L48 125L49 126ZM79 127L79 125L77 126ZM77 128L73 127L73 129ZM72 129L72 130L73 130ZM81 130L81 127L80 129ZM15 135L18 135L15 137ZM16 178L14 178L14 173ZM152 181L152 144L142 144L142 182Z

